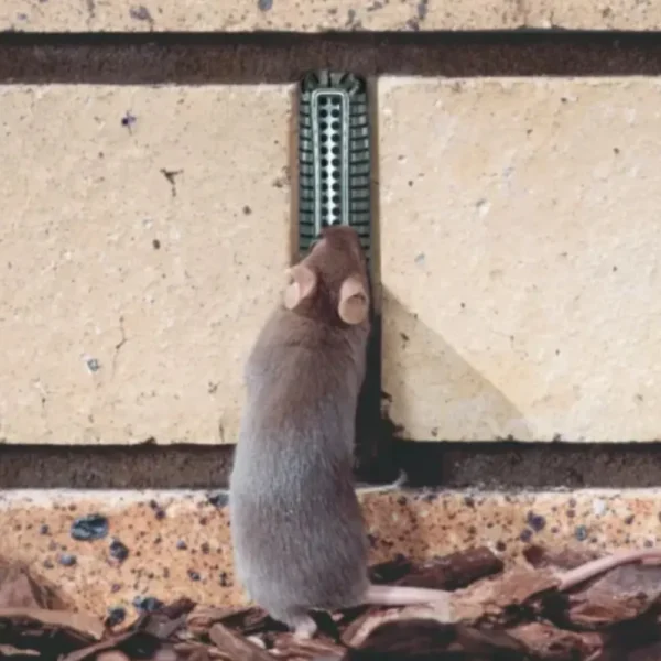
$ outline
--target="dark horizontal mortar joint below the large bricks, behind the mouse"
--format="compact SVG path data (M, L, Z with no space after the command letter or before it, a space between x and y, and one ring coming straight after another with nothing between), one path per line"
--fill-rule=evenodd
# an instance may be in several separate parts
M388 464L405 472L410 488L518 491L661 486L658 442L395 441L391 449L393 462ZM224 489L232 454L231 445L6 445L0 447L0 489ZM394 476L382 474L379 483Z

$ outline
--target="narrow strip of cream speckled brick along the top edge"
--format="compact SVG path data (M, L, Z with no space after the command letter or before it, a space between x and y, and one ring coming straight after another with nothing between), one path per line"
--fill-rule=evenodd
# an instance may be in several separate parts
M639 0L3 0L0 29L30 32L659 30Z

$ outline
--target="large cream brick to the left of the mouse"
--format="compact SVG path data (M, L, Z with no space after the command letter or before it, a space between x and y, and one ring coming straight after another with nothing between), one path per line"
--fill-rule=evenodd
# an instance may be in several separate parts
M290 254L290 91L0 88L3 442L235 441Z

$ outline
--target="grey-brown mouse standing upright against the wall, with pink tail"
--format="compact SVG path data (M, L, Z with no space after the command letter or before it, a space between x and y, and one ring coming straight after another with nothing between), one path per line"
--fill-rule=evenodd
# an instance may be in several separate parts
M325 227L285 278L243 372L228 503L237 579L299 639L316 633L313 611L368 604L443 611L444 590L368 577L354 446L372 311L357 231Z

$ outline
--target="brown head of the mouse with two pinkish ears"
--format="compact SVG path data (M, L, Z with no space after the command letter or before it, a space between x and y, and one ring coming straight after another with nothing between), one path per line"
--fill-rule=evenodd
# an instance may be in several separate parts
M286 275L288 310L333 325L368 323L367 261L354 228L324 228L307 256L288 269Z

